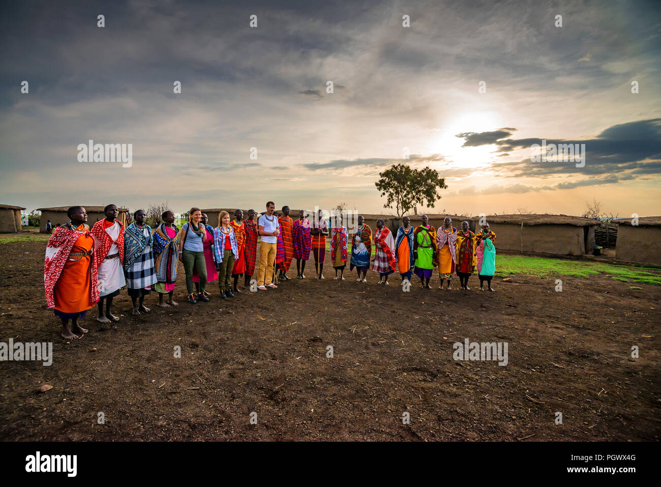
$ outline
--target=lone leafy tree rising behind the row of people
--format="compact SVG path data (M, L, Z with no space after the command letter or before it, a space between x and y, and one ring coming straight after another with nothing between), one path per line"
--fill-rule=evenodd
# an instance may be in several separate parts
M438 191L447 188L446 179L430 167L411 169L406 164L393 164L379 173L379 177L374 184L381 196L386 197L383 208L395 208L399 218L418 204L434 208L436 200L441 198Z

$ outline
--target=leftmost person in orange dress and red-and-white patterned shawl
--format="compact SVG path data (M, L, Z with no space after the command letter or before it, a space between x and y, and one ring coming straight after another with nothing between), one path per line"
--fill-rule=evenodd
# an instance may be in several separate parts
M62 337L72 339L87 333L78 320L97 304L98 280L87 212L83 206L71 206L67 216L71 221L56 227L46 245L44 288L46 306L55 308L62 322Z

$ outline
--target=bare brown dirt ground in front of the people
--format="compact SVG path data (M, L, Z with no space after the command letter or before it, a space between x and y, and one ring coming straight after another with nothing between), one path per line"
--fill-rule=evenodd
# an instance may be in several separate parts
M555 292L513 277L490 293L473 276L462 292L435 274L434 289L403 292L371 271L367 285L334 281L328 264L315 281L309 261L305 281L227 300L211 283L212 300L190 305L180 267L179 306L152 294L132 317L124 290L118 324L93 310L67 343L46 309L45 248L0 244L0 341L52 341L54 353L50 367L0 363L0 440L659 439L660 287L600 275ZM508 365L453 360L465 338L508 342Z

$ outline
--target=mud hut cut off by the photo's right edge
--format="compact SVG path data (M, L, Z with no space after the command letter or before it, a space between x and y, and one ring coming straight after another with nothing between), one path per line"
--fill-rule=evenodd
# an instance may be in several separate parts
M661 265L661 216L613 220L617 223L615 259Z

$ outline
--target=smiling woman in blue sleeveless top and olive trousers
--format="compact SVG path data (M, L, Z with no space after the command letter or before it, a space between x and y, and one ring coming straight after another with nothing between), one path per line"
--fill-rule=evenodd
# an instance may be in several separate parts
M177 236L179 240L179 255L184 261L186 271L186 291L188 302L196 304L198 301L207 302L209 298L204 294L206 288L206 261L204 260L204 242L211 238L202 224L202 211L200 208L190 208L188 222L184 223ZM193 269L198 269L200 275L200 291L197 296L193 293Z

